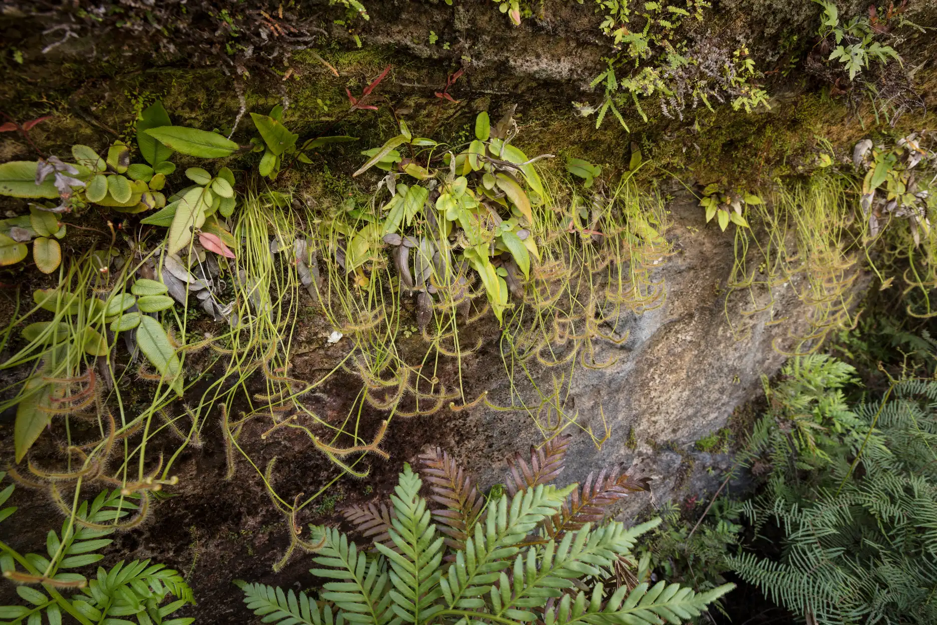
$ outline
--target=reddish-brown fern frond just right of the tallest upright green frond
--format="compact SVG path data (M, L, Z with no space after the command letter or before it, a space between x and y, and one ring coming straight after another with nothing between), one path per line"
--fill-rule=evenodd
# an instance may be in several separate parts
M446 507L432 511L433 520L448 537L446 544L464 549L472 527L480 520L484 498L471 476L439 447L429 454L420 454L420 460L423 463L420 473L432 492L429 499Z

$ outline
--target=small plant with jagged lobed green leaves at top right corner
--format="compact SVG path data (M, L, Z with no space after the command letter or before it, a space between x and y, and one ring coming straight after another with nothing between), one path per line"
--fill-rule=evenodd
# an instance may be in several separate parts
M869 60L874 59L885 64L889 59L901 62L898 52L891 46L885 46L875 37L885 34L886 28L878 18L877 9L870 6L870 15L856 15L849 22L840 22L840 10L832 0L813 0L823 7L823 16L818 31L820 37L832 37L835 42L829 61L839 61L843 70L849 72L849 80L869 67Z

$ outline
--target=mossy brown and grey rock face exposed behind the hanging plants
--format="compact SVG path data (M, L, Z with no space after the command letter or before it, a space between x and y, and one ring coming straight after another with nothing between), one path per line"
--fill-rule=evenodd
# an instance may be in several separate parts
M529 379L527 373L516 374L528 384L528 399L530 380L542 394L560 394L565 416L536 406L496 410L483 402L452 410L447 402L431 415L394 418L382 442L390 459L369 456L368 478L339 479L300 515L304 527L339 523L342 506L383 498L404 462L417 464L419 454L436 447L463 462L487 489L503 481L509 455L527 454L530 445L543 441L544 432L549 434L549 426L566 418L575 424L566 429L573 439L560 483L582 481L589 471L613 463L650 479L650 492L627 499L616 509L618 518L637 519L668 499L712 493L732 456L715 453L721 450L700 452L694 442L727 425L741 432L751 423L752 404L763 396L763 377L778 372L791 337L808 332L811 308L797 297L802 285L796 278L773 294L730 289L727 282L738 258L736 226L723 232L715 220L707 224L691 189L699 195L703 186L716 183L767 193L776 178L796 181L817 170L823 146L848 169L856 141L898 138L937 121L937 44L931 30L896 31L901 64L891 61L885 69L870 61L867 75L890 89L881 90L883 98L898 94L892 104L900 114L885 114L885 108L877 108L885 105L874 97L838 93L865 89L859 82L829 82L823 71L809 69L810 63L828 63L811 61L811 50L819 45L821 9L806 0L712 0L713 7L703 9L704 19L688 21L678 37L687 50L745 48L757 68L753 80L768 95L766 105L745 112L736 111L730 99L712 99L710 110L702 101L691 106L688 100L677 112L662 107L655 95L641 98L643 114L621 106L621 123L608 113L598 129L595 114L581 117L573 106L601 105L602 86L590 82L607 67L603 59L616 53L592 0L522 2L519 25L490 0L373 0L364 3L367 20L350 15L354 11L341 3L308 0L283 5L260 0L61 4L0 2L0 112L20 121L52 115L29 133L47 154L67 155L73 143L100 150L115 139L131 141L137 115L156 99L175 124L216 128L226 135L233 130L233 139L244 144L253 134L247 113L266 113L279 104L285 123L304 139L323 134L360 138L323 151L312 165L286 171L274 183L261 183L290 188L298 201L328 206L374 192L383 172L354 178L351 173L364 162L362 150L397 133L394 112L415 135L458 144L473 138L478 112L491 112L494 123L515 106L518 144L528 155L556 156L541 161L545 175L566 176L564 163L573 156L602 164L611 182L629 170L632 155L641 150L647 166L635 176L638 185L665 197L669 225L663 235L669 251L648 274L664 285L660 305L623 314L605 328L627 339L596 342L594 362L606 364L602 368L576 366L571 374L569 368L531 365ZM235 16L231 23L240 28L240 38L222 27L228 22L219 21L221 11ZM840 16L867 12L867 2L840 2ZM937 27L935 3L911 2L902 15L922 27ZM271 30L272 22L283 24L279 32ZM256 41L253 52L245 52L247 41ZM348 112L346 88L352 95L362 93L388 66L391 71L369 100L379 110ZM458 71L463 73L447 87ZM21 135L0 133L0 162L35 158ZM188 164L186 158L176 158L180 168ZM250 171L257 161L257 155L247 155L224 164ZM0 208L16 215L28 210L25 201L10 198L2 198ZM107 231L109 219L121 218L95 206L73 221ZM755 236L764 235L758 224L751 226ZM66 256L81 252L97 236L80 232L63 241ZM53 286L35 266L3 271L4 290L21 285L23 298L33 289ZM854 310L872 284L869 271L858 264L855 271L849 287ZM301 308L312 310L313 299L305 291L302 295ZM0 315L8 319L13 307L9 297L4 299ZM769 300L770 314L751 314ZM415 314L412 298L403 298L402 305ZM342 361L347 341L327 343L332 330L315 312L297 320L291 376L315 379ZM473 340L481 338L482 346L463 358L458 371L466 397L486 392L492 405L512 404L515 392L499 353L498 323L489 315L470 334ZM0 354L3 360L7 356ZM446 373L455 379L452 368ZM4 385L23 375L4 371ZM326 421L340 421L360 386L360 380L337 376L304 401ZM0 443L10 463L14 413L10 409L0 417ZM367 408L361 423L371 431L385 417ZM118 534L104 553L114 560L154 558L185 573L199 602L187 608L186 616L197 617L200 625L245 622L242 593L231 579L284 587L301 579L311 585L311 564L296 556L272 572L290 544L283 515L271 504L258 472L244 462L233 479L224 479L218 417L212 413L208 419L202 446L187 448L176 461L180 483L167 488L173 497L160 500L140 528ZM277 457L275 486L290 497L315 493L339 474L305 435L261 439L263 429L260 424L245 427L245 451L263 462ZM4 524L8 542L35 550L61 516L52 502L25 488L14 499L20 511ZM0 594L0 603L15 601L10 585Z

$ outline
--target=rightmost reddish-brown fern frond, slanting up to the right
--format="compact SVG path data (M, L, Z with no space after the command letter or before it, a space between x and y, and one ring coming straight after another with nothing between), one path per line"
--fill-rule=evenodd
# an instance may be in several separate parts
M581 529L587 523L598 523L604 518L607 506L632 493L650 490L647 478L634 479L628 473L618 475L617 467L606 477L607 470L602 469L594 484L595 474L589 473L586 484L570 493L559 513L544 519L543 525L550 538L560 538L565 532Z

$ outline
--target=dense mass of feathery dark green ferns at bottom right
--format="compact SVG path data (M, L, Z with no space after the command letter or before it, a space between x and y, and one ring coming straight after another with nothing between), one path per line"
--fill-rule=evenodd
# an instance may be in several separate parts
M791 366L745 451L748 466L767 467L745 514L756 533L768 523L781 531L781 557L741 553L730 565L824 625L934 622L937 383L893 380L849 409L840 385L851 367L827 357ZM802 426L792 438L792 421L810 421L815 440Z

